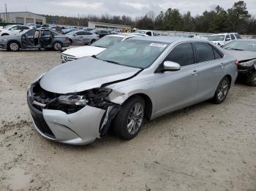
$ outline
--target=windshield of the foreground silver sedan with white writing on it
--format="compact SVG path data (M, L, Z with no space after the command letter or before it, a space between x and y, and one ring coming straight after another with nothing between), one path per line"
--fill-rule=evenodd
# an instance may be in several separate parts
M165 42L126 40L100 52L96 58L123 66L146 69L154 63L168 45Z

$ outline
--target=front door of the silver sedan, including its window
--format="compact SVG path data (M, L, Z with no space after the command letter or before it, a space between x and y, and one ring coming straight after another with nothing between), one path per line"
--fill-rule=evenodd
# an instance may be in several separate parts
M179 63L181 70L157 74L154 82L158 93L157 114L193 104L197 92L197 66L190 42L177 44L165 61Z

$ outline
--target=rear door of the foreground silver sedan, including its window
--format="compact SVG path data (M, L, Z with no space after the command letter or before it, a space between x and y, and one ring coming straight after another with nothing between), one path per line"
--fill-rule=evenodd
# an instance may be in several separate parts
M196 101L214 96L217 85L225 75L225 63L222 52L207 42L193 43L196 53L198 88Z

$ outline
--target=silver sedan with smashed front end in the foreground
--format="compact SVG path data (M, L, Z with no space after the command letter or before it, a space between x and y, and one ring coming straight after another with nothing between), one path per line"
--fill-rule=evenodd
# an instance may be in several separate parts
M89 144L108 130L121 139L152 120L200 101L225 100L235 58L200 39L134 37L56 66L29 87L37 131L65 144Z

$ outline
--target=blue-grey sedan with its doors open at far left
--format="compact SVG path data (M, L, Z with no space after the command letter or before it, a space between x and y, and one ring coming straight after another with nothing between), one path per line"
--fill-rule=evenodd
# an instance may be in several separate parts
M48 29L31 29L20 31L16 35L0 37L0 48L10 51L28 48L61 50L62 47L69 47L69 45L69 38Z

